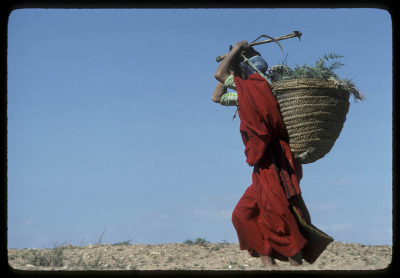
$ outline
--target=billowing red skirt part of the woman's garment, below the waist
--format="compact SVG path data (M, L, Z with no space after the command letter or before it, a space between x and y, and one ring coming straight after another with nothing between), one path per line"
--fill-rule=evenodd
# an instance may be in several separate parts
M262 189L271 192L265 187ZM282 190L275 192L279 191ZM287 261L287 257L295 255L306 240L300 234L289 207L283 204L283 194L274 198L271 193L260 198L259 188L254 184L249 186L233 211L232 222L240 250L248 250L252 257L263 255Z

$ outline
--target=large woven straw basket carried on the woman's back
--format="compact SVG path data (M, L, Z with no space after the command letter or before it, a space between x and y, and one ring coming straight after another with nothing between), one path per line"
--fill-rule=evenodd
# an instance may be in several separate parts
M302 164L324 157L340 134L349 92L334 81L292 79L271 85L289 135L290 150Z

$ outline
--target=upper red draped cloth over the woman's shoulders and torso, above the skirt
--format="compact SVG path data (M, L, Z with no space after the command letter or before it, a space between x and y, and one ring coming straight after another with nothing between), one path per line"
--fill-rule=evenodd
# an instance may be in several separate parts
M258 73L247 80L234 77L234 82L246 162L254 166L254 172L266 168L264 174L270 178L278 175L287 198L300 194L301 164L290 151L286 127L268 82Z

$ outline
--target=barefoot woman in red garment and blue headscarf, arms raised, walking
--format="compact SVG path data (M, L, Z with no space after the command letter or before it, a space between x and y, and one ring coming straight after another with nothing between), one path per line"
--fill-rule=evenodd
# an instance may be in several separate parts
M232 222L240 249L260 257L264 266L276 266L274 259L291 266L301 265L302 259L311 264L333 239L311 224L299 188L301 164L290 151L278 103L263 76L267 67L243 40L231 47L214 74L219 83L211 99L237 105L246 162L254 166L252 184L236 205ZM237 94L227 93L227 87ZM323 239L308 237L312 230Z

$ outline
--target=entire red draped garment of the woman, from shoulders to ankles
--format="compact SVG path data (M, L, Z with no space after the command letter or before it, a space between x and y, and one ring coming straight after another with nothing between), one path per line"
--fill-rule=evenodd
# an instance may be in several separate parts
M232 222L241 250L248 250L253 257L287 261L307 242L288 202L300 198L301 164L290 152L287 131L268 82L257 73L247 80L234 77L234 82L246 162L254 170L252 185L235 207ZM305 207L300 215L309 222Z

